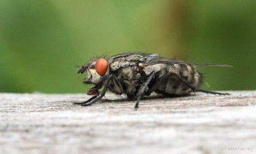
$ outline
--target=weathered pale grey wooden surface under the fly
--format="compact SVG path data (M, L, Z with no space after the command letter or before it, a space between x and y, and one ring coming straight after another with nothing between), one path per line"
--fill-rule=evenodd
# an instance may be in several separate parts
M0 93L0 153L256 153L256 91L90 107L77 95ZM231 149L228 149L231 148Z

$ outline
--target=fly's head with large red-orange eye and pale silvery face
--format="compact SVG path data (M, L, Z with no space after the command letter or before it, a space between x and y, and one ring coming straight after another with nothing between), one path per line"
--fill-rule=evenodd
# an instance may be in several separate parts
M88 95L99 94L99 89L102 88L103 82L108 79L109 76L109 66L108 61L103 58L92 59L89 63L81 66L77 73L86 72L86 77L84 79L84 84L94 84L95 87L88 90Z

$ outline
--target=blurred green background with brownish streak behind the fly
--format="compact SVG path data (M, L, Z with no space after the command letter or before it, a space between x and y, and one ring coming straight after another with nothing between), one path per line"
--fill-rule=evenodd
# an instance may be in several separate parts
M0 1L0 92L86 93L77 66L111 52L198 63L202 88L256 87L256 1Z

